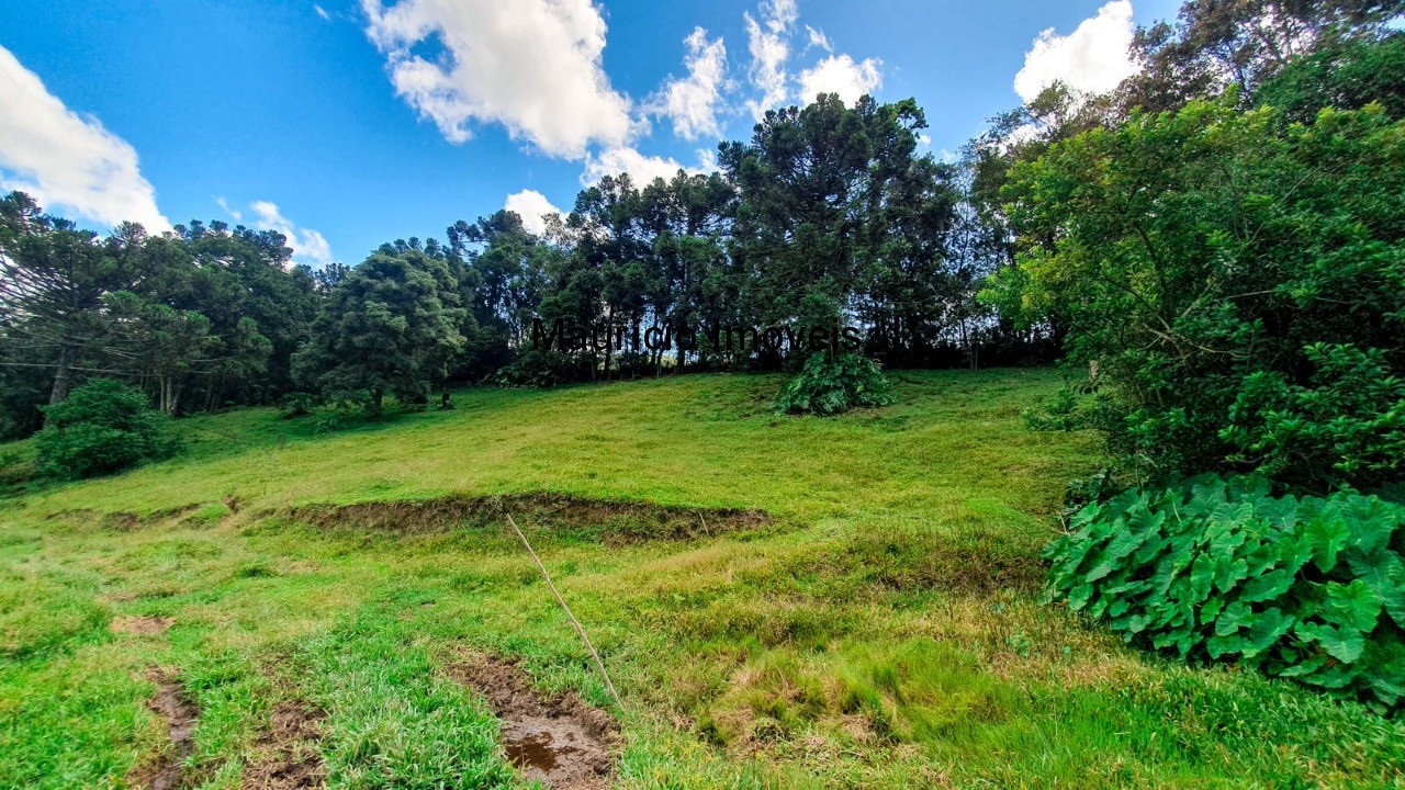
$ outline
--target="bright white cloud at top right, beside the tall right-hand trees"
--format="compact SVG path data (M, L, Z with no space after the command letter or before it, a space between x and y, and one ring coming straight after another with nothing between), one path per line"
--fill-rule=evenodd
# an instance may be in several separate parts
M1134 31L1130 0L1113 0L1068 35L1045 30L1014 75L1014 93L1030 101L1055 80L1083 93L1113 90L1135 69L1128 49Z

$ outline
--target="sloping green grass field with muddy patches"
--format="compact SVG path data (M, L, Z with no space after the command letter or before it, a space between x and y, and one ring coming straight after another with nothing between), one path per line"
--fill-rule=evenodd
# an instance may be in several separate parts
M1405 783L1401 724L1040 603L1064 484L1099 461L1024 429L1052 373L895 380L896 406L837 419L777 417L781 380L743 375L471 389L336 432L250 409L183 420L169 462L11 482L0 786L163 760L257 786L288 706L332 787L523 784L452 671L485 654L613 714L622 787ZM495 500L465 498L514 509L622 708ZM160 678L198 711L174 755Z

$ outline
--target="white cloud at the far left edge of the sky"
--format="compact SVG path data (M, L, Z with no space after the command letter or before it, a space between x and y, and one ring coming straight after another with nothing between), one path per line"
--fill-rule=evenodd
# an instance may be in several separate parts
M152 232L170 229L136 149L93 115L65 107L4 46L0 96L0 190L30 193L46 209L108 226L133 221Z

